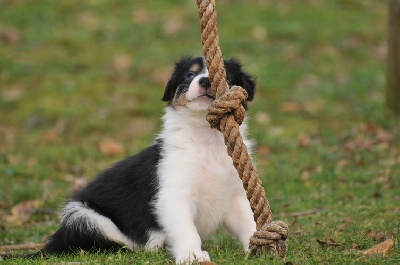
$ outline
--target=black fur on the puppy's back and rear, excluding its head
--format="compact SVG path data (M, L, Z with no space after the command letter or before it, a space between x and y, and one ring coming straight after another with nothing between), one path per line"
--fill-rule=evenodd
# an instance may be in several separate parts
M88 208L108 217L132 241L144 245L149 230L160 230L151 202L158 189L157 164L162 141L135 156L122 160L78 192L71 201L85 203ZM65 218L68 218L65 217ZM121 246L86 227L85 223L62 225L49 238L44 254L59 254L77 249L114 250Z

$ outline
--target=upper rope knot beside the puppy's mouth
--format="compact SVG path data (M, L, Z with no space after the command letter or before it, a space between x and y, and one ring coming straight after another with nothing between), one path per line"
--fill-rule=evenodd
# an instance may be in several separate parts
M207 121L210 126L220 130L222 119L229 115L233 115L238 125L242 124L246 114L243 103L247 96L247 91L240 86L232 86L223 92L208 109Z

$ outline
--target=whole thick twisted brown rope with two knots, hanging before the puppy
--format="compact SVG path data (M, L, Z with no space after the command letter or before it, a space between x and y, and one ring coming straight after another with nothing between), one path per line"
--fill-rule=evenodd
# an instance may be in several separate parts
M268 200L256 168L239 131L243 122L247 92L239 86L229 88L217 31L217 13L214 0L197 0L199 9L201 41L206 65L209 70L211 91L215 95L207 120L212 128L224 135L228 154L238 171L246 190L256 222L257 231L250 238L250 251L261 254L263 249L270 254L283 257L286 254L288 226L282 221L273 221Z

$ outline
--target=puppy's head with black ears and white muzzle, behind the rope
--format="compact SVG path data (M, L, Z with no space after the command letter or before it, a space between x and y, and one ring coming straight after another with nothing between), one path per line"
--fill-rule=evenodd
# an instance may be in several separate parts
M253 77L242 70L236 59L224 60L224 64L229 86L243 87L248 93L247 100L253 100L255 92ZM207 110L214 97L211 95L211 84L204 57L184 57L175 64L162 100L169 102L175 109Z

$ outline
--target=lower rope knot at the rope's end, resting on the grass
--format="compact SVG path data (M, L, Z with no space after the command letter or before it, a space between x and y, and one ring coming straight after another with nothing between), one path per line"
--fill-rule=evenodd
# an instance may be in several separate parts
M289 227L284 222L266 223L250 238L250 251L255 255L260 255L264 248L270 254L283 257L287 252L288 235Z

